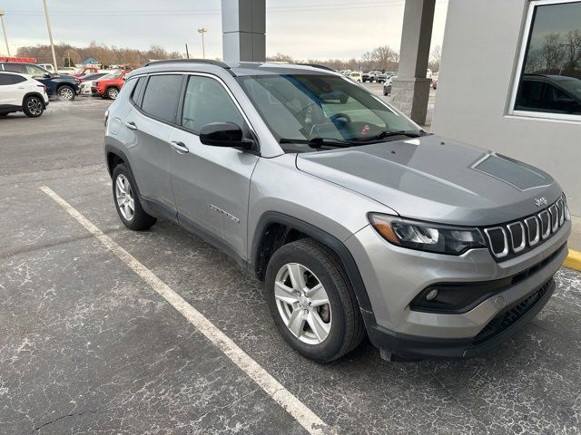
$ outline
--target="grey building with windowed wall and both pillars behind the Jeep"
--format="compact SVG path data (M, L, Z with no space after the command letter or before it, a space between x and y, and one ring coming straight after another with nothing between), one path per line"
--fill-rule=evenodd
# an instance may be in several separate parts
M222 0L227 61L263 61L265 0ZM392 102L426 121L436 0L405 0ZM449 0L431 131L553 175L581 250L581 0Z

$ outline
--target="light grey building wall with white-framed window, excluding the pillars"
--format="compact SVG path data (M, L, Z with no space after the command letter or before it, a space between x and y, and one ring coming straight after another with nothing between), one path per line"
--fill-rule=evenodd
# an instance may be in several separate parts
M449 0L432 131L553 175L581 250L581 1Z

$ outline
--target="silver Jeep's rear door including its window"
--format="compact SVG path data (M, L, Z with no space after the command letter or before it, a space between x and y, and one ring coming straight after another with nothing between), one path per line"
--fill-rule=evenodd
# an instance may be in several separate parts
M129 145L133 175L140 194L151 206L175 213L170 181L170 135L177 123L183 75L152 74L143 78L143 96L127 114L123 128L133 131ZM140 87L137 83L135 89Z

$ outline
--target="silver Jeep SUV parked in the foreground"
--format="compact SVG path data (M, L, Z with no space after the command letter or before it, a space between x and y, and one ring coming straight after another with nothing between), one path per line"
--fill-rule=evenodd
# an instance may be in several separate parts
M542 170L422 131L317 65L162 61L127 77L104 152L126 227L167 218L264 281L319 362L472 356L547 303L566 198Z

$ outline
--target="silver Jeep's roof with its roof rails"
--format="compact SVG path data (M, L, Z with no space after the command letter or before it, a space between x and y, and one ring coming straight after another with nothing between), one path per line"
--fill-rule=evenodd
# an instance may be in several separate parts
M247 75L272 75L272 74L332 74L340 75L340 73L331 70L322 65L300 64L300 63L271 63L271 62L220 62L220 61L203 61L179 59L173 61L157 61L146 63L142 68L134 70L132 75L139 73L154 73L154 72L201 72L208 73L216 71L217 69L226 70L231 75L247 76Z

